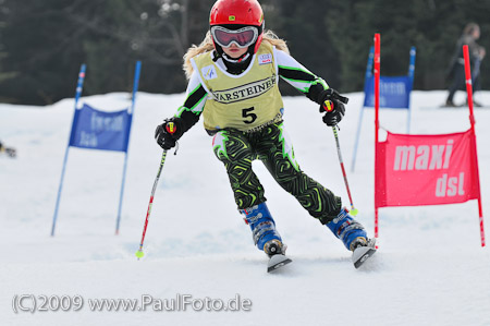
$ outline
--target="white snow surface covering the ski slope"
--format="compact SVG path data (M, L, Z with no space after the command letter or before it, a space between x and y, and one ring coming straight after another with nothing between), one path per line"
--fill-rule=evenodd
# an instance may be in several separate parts
M127 94L84 97L108 110ZM341 122L347 167L363 94ZM414 92L412 132L469 128L468 110L439 109L446 92ZM456 101L464 101L463 93ZM137 261L161 149L155 126L183 94L138 94L130 143L121 232L114 236L123 154L71 148L56 237L50 237L73 99L52 106L0 105L0 138L19 157L0 156L1 325L490 325L490 253L480 246L477 202L380 209L380 250L355 269L341 242L285 193L257 161L268 205L293 264L267 274L236 210L226 173L201 123L169 154L155 196L145 257ZM477 95L490 104L490 92ZM285 125L302 169L348 204L333 133L315 104L285 97ZM483 214L490 212L490 109L476 109ZM358 220L373 229L373 110L366 110L355 172L347 169ZM404 133L406 111L382 110L381 125ZM490 228L486 224L486 232ZM19 312L15 295L82 295L79 311ZM249 311L95 312L90 299L252 301ZM17 297L19 298L19 297ZM32 306L32 298L23 301Z

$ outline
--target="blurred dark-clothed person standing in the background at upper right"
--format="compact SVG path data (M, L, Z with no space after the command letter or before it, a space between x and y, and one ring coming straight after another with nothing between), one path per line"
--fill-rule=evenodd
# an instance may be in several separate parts
M469 23L463 29L463 35L460 37L456 44L453 58L449 68L449 76L453 77L452 84L449 88L449 96L445 101L446 107L456 107L453 102L454 94L456 90L465 89L465 61L463 58L463 46L467 45L469 49L469 58L471 65L471 82L473 92L480 89L479 75L480 75L480 62L483 59L486 51L485 48L476 43L480 38L480 27L476 23ZM481 105L474 100L474 106L481 107Z

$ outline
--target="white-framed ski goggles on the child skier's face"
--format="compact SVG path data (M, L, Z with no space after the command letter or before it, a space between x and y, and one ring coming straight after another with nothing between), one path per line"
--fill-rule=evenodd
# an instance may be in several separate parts
M212 39L220 46L228 48L233 43L238 48L247 48L253 45L258 37L258 29L254 26L245 26L233 31L222 26L211 27Z

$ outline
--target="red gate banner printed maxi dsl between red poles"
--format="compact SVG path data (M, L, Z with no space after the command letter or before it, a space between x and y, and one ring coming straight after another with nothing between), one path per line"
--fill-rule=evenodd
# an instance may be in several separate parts
M480 197L474 131L388 133L378 144L375 206L463 203Z

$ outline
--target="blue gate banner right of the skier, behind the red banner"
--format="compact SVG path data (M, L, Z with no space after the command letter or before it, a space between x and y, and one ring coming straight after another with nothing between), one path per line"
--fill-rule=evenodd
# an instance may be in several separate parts
M412 92L412 79L409 76L380 76L379 79L379 107L408 109ZM365 107L375 106L375 77L366 79Z

